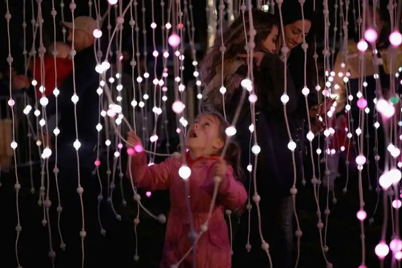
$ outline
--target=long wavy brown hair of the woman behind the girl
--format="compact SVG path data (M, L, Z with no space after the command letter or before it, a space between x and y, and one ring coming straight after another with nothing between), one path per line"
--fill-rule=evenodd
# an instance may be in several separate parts
M262 49L262 44L271 33L272 27L278 24L275 16L270 13L258 9L253 9L251 13L256 33L254 37L254 49L258 51ZM230 66L229 63L236 60L237 54L246 53L247 43L245 31L247 32L247 40L250 40L249 29L250 17L248 12L245 12L244 22L243 16L239 16L223 33L223 44L220 37L215 39L214 45L209 49L203 61L200 63L200 79L205 84L208 84L217 74L217 69L219 69L217 67L222 66L222 45L225 46L224 67ZM280 38L278 38L278 40L280 40Z

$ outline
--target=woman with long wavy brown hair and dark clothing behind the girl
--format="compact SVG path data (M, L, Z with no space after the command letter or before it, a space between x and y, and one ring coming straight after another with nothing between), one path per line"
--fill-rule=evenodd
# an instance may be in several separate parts
M223 42L226 50L223 77L221 76L222 52L220 47L222 43L220 38L216 39L214 46L200 65L201 79L207 84L204 92L203 109L218 110L226 114L229 121L232 121L237 107L242 106L240 116L236 122L237 133L235 138L242 151L242 166L246 174L244 185L249 188L249 196L253 197L257 195L254 192L254 183L256 183L258 195L261 198L258 202L260 217L255 204L252 207L247 206L247 209L251 208L249 212L251 215L250 223L247 211L241 215L239 231L234 237L233 267L245 267L250 263L253 263L253 267L256 268L267 267L269 259L267 253L261 248L262 239L264 239L269 244L273 265L288 268L292 267L293 200L290 196L290 189L293 185L294 173L293 168L291 168L292 154L287 148L289 136L284 118L283 104L280 101L284 90L285 66L279 55L274 54L275 48L266 47L269 38L272 38L272 34L277 33L278 23L271 14L258 10L252 11L256 31L253 78L254 90L258 100L255 103L255 110L251 111L248 102L240 103L241 95L244 91L240 84L243 79L248 77L249 73L247 56L245 56L246 38L244 29L249 31L250 25L249 17L246 15L248 13L245 13L245 26L243 26L243 18L239 18L224 33ZM291 24L289 21L288 24ZM293 29L294 27L299 28L298 23L285 30L289 48L293 48L293 45L303 41L303 33ZM309 23L310 21L305 25L305 34L308 33L308 28L310 28L307 27ZM290 31L290 34L286 35L286 31ZM298 37L300 34L302 35L301 39ZM275 37L277 37L277 34ZM295 63L295 66L298 66L299 72L302 72L303 64L297 65ZM227 90L224 95L225 106L220 93L222 80ZM289 101L286 104L286 114L291 139L298 145L295 150L295 162L298 167L298 152L304 149L303 140L307 134L304 128L304 119L308 115L316 117L316 114L320 112L319 110L322 110L322 105L317 110L311 109L308 113L305 97L301 94L302 88L294 86L291 72L289 71L287 72L286 80L287 95L289 97ZM312 106L316 103L309 105ZM255 116L256 121L256 141L253 140L249 131L249 127L252 125L252 116ZM312 130L314 132L318 133L321 128L322 125L319 121L313 122ZM247 168L248 165L254 162L254 157L251 157L253 155L250 151L251 144L258 144L261 148L258 154L255 178ZM297 168L297 177L299 176L298 171ZM259 227L261 227L261 233L259 233Z

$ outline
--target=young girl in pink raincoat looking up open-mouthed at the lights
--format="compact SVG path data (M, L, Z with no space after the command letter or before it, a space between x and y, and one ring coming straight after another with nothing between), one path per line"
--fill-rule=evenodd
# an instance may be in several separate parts
M198 268L231 267L231 248L223 213L224 209L241 208L247 200L247 193L243 185L236 181L239 177L237 170L240 156L237 145L229 143L225 160L220 158L227 142L225 129L228 126L219 114L205 113L198 116L187 132L185 142L189 151L185 161L170 157L160 164L148 166L145 152L131 156L131 171L128 171L128 175L132 174L131 179L137 187L150 191L170 190L171 205L162 268L170 268L191 248L190 222L197 233L206 222L215 176L221 177L222 181L208 229L199 237L195 254L190 253L179 267L192 267L194 258ZM134 132L129 132L127 143L128 146L141 144L141 139ZM185 182L178 174L178 169L184 164L191 168L191 175L187 179L188 194L185 194ZM191 221L186 199L190 202Z

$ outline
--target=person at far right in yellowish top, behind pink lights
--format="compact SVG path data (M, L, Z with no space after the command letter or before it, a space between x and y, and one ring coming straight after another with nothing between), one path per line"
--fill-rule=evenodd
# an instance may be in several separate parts
M397 68L402 66L402 46L396 48L397 56L393 58L391 61L389 59L389 55L391 50L389 49L389 34L391 33L391 28L389 23L387 23L383 17L381 16L380 10L374 10L373 6L369 6L367 9L367 18L366 18L366 27L373 28L376 30L378 37L375 41L375 52L377 52L377 66L375 68L374 63L374 53L373 44L369 44L369 49L364 52L364 76L361 75L360 64L361 61L358 58L362 52L360 52L357 48L357 43L360 41L359 37L356 36L353 39L348 40L346 55L343 51L340 51L337 55L334 71L336 73L342 73L343 76L348 72L349 81L348 87L346 88L346 84L343 81L343 77L339 77L336 75L334 77L333 84L337 85L338 90L336 91L339 95L344 95L346 98L352 96L353 99L348 102L349 106L347 109L350 109L350 117L351 117L351 131L353 134L352 141L354 144L358 144L359 136L355 135L355 130L360 127L362 130L362 134L364 137L368 135L365 139L367 142L363 142L363 153L367 157L367 163L363 169L363 172L367 172L368 178L370 180L370 184L374 190L375 186L378 183L378 175L381 174L381 171L384 170L385 164L385 153L386 146L388 145L387 135L389 134L389 124L390 122L382 122L381 116L375 109L374 100L380 98L379 91L381 91L382 97L385 100L389 100L391 97L396 97L396 94L400 94L400 83L399 78L393 78L394 75L390 75L393 73L397 73ZM375 20L375 25L374 24ZM369 24L371 23L371 25ZM375 73L378 73L379 78L375 77ZM362 77L363 80L360 78ZM366 86L361 87L360 82L364 81ZM395 92L391 92L391 84L395 84ZM339 86L339 87L338 87ZM360 97L359 95L362 94ZM367 108L369 109L369 113L364 113L357 106L357 101L359 98L363 97L367 100ZM346 98L342 98L339 102L339 108L345 108L346 106ZM395 117L398 118L395 120L395 124L399 121L398 115L396 115L400 111L397 105L395 105ZM361 121L360 113L363 112L364 121ZM375 122L379 122L379 127L375 128ZM364 125L363 125L364 122ZM398 126L393 126L398 128ZM357 146L355 146L358 148ZM359 152L358 152L359 153ZM376 157L376 156L379 156ZM366 168L367 166L367 168ZM379 170L378 170L379 169Z

